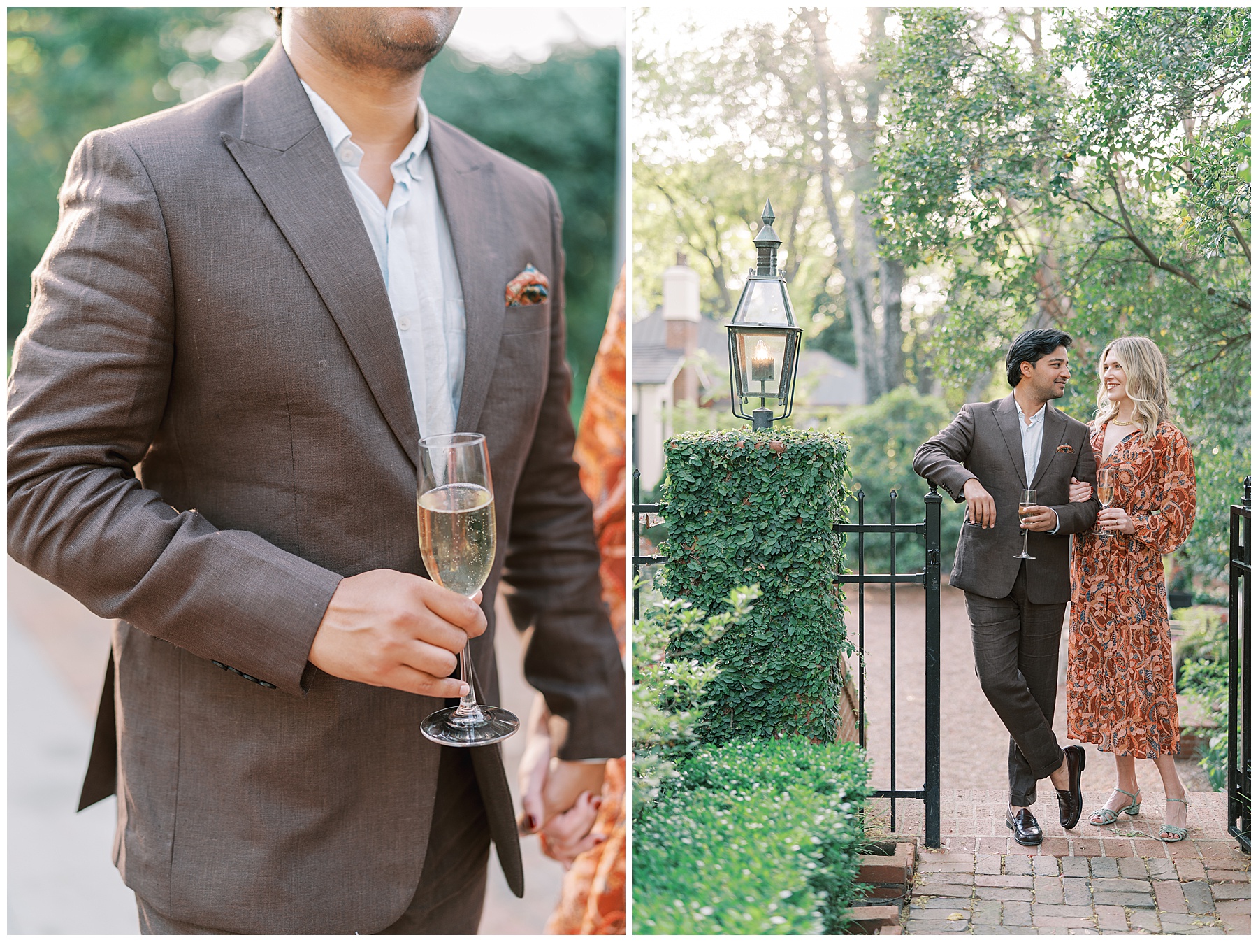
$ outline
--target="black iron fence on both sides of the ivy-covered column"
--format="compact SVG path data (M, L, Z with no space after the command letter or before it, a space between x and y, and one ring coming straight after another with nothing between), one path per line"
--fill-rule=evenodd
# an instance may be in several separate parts
M848 554L852 550L852 539L855 539L855 572L837 573L835 582L840 584L854 584L857 587L857 655L859 672L857 678L858 706L857 730L860 746L866 744L866 586L887 584L889 589L891 622L888 626L888 642L891 645L891 670L889 670L889 747L891 747L891 782L887 788L874 790L874 796L891 800L891 829L896 830L896 800L912 798L925 803L926 811L926 846L938 848L940 841L940 508L944 499L931 487L930 494L923 497L923 519L918 523L897 523L896 509L898 495L891 491L891 520L889 523L867 524L864 520L864 491L857 494L857 521L847 524L834 524L834 531L848 535ZM647 518L648 529L658 525L658 515L662 513L662 504L643 504L642 485L639 472L633 474L633 617L634 621L642 617L638 570L643 565L655 565L664 562L660 555L642 554L643 518ZM891 542L889 573L866 572L866 538L872 534L888 534ZM922 538L923 552L921 557L922 568L920 572L901 573L897 570L896 536L899 534L915 534ZM916 555L916 554L915 554ZM925 608L925 645L926 645L926 729L925 729L925 782L921 788L899 788L896 777L896 587L903 583L916 583L926 589ZM1248 753L1247 753L1248 754ZM1248 781L1248 780L1247 780Z

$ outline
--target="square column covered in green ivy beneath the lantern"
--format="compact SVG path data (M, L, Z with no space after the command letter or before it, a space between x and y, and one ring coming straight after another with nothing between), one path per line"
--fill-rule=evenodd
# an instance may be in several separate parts
M799 734L830 742L850 650L834 576L847 440L838 433L692 432L664 443L664 594L716 615L760 586L740 625L703 649L708 742Z

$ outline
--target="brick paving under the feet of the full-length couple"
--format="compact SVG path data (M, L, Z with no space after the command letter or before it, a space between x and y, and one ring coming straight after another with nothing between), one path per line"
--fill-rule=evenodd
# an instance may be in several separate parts
M1023 848L1005 827L1003 792L947 792L944 848L918 850L905 932L1248 936L1249 858L1227 834L1225 796L1189 795L1189 839L1180 844L1150 836L1162 821L1157 797L1136 819L1107 827L1084 819L1064 831L1055 797L1042 795L1044 843ZM1105 798L1088 792L1084 807Z

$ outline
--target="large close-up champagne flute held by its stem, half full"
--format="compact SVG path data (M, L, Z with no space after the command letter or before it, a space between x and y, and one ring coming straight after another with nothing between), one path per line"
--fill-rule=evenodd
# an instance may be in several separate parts
M469 432L419 441L419 552L438 586L469 598L493 568L497 525L484 436ZM420 732L443 746L488 746L520 729L515 713L476 701L468 646L459 652L468 685L458 706L424 718Z

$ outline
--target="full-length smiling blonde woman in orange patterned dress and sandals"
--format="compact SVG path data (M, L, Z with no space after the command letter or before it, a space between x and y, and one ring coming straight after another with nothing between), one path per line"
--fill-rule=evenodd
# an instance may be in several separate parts
M1188 801L1175 772L1179 712L1166 611L1162 555L1179 548L1196 515L1196 479L1188 440L1169 419L1166 359L1147 338L1118 338L1098 366L1091 423L1098 496L1113 482L1096 529L1076 534L1071 557L1071 647L1067 735L1112 752L1117 786L1088 821L1111 825L1141 807L1136 759L1162 777L1166 817L1160 839L1188 836ZM1087 484L1071 500L1087 500Z

